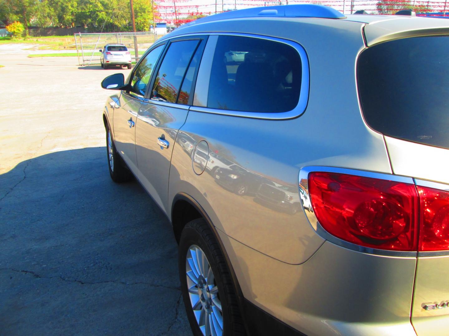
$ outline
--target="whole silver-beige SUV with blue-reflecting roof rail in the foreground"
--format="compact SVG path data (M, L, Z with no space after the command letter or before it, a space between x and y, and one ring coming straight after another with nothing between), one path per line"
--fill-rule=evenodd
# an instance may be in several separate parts
M171 221L195 335L445 334L448 55L446 20L287 5L105 78L110 176Z

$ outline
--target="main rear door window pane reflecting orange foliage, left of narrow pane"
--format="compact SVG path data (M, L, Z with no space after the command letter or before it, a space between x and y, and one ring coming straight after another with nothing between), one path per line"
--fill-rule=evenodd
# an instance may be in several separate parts
M198 43L198 40L186 40L170 44L154 82L152 100L176 103L182 79Z

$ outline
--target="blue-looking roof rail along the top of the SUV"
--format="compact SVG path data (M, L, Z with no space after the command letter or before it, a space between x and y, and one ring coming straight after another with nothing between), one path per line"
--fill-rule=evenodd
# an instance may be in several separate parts
M201 19L186 23L192 26L198 23L236 19L242 17L321 17L327 19L343 19L343 13L321 4L287 4L282 6L268 6L248 9L239 9L220 14L202 17Z

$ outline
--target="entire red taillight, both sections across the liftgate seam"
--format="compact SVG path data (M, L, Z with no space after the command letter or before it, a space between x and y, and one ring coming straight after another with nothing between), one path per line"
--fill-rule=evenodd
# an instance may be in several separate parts
M309 173L308 188L335 237L381 250L449 250L449 192L334 172Z

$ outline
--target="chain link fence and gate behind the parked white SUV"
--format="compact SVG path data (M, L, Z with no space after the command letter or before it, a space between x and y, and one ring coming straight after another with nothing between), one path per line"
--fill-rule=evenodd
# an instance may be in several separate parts
M138 61L144 52L158 39L158 34L150 31L128 33L73 34L79 65L100 64L100 49L108 43L122 43L131 53L133 61Z

